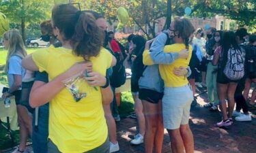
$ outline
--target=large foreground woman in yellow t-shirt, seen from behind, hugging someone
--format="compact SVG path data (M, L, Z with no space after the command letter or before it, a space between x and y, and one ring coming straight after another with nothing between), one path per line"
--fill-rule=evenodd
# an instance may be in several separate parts
M51 81L46 84L49 90L42 90L42 98L51 100L48 152L109 152L101 92L107 87L111 95L111 88L107 79L103 82L98 79L111 67L113 56L101 47L104 33L91 14L77 10L73 5L55 6L52 20L53 32L63 47L40 50L25 61L32 63L27 68L33 71L46 71ZM91 67L88 63L74 65L84 61L91 61L93 67L87 82L79 83L87 96L76 102L68 88L64 88L63 80L88 70ZM96 90L91 86L102 88Z

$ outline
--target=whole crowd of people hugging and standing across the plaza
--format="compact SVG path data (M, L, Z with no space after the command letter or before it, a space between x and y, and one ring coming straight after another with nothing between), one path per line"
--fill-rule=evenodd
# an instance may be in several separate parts
M256 90L247 100L256 82L256 35L245 28L195 29L177 17L156 38L131 34L122 46L107 31L104 16L70 4L56 5L40 27L49 46L30 55L17 30L3 35L10 88L2 97L15 97L20 126L13 153L117 152L115 88L127 73L137 118L130 143L144 143L146 153L162 152L164 129L172 152L194 152L188 120L197 88L208 90L204 107L221 109L216 126L231 126L232 117L251 120L248 108L256 107ZM26 146L28 137L33 151Z

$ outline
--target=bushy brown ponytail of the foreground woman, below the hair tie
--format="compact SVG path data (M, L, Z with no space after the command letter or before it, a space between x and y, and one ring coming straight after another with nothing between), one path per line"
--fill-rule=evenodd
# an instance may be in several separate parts
M96 19L90 13L78 12L74 35L71 43L74 54L89 60L91 56L98 56L104 41L104 31L96 24ZM76 14L76 15L77 15Z

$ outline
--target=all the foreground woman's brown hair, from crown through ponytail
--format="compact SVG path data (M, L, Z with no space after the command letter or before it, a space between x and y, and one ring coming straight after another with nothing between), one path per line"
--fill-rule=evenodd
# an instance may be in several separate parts
M81 12L73 5L57 5L52 11L53 27L57 27L65 41L70 41L74 54L88 61L98 56L104 41L104 31L89 12Z

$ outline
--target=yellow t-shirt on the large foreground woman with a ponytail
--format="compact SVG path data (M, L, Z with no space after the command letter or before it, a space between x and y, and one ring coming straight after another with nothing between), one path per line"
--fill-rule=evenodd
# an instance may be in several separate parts
M49 80L68 70L74 63L84 61L66 48L53 46L32 54L40 71L46 71ZM91 57L93 70L106 75L111 67L112 55L102 49L97 57ZM68 88L59 92L50 103L49 139L63 153L81 153L102 145L108 136L102 108L102 95L88 84L81 86L88 90L87 97L76 102Z

